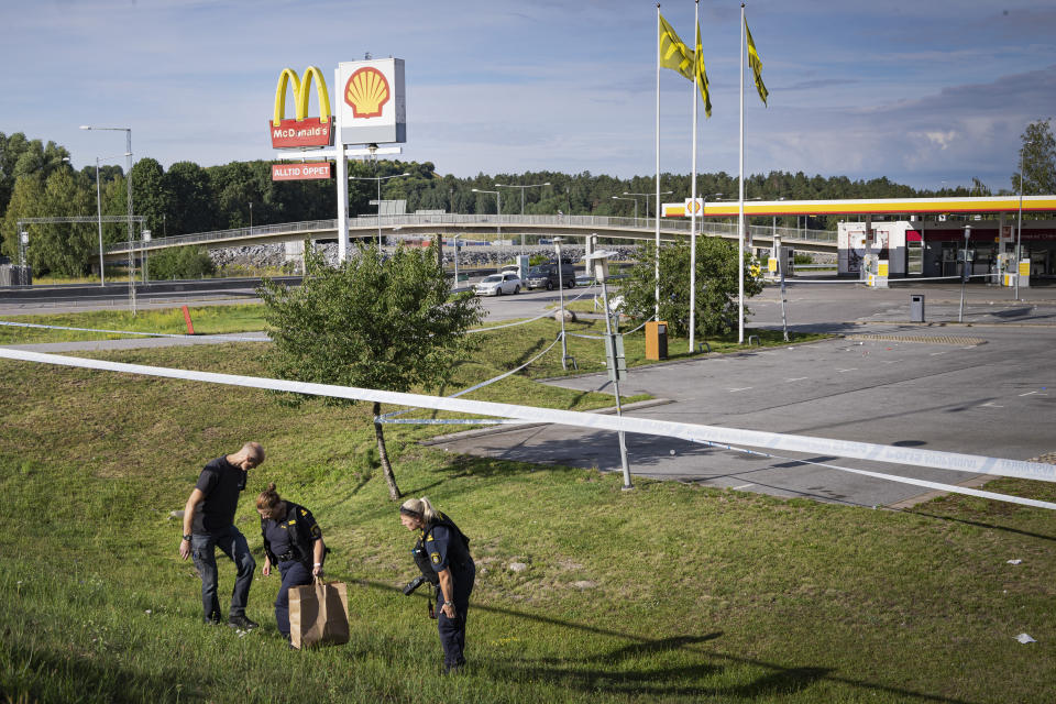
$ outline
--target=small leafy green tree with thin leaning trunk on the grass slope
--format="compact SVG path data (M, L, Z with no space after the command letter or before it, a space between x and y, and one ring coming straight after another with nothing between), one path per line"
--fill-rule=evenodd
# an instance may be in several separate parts
M394 392L439 388L470 349L464 334L483 317L464 293L449 299L437 245L398 248L385 260L376 248L331 268L306 243L300 287L265 280L265 320L274 342L267 356L282 378ZM381 415L374 403L374 417ZM381 424L374 424L382 472L400 497Z

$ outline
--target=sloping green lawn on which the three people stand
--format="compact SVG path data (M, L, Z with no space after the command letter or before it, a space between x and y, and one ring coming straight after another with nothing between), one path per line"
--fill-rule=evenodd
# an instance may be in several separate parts
M549 343L552 327L536 324L486 336L446 393ZM106 356L261 375L264 350ZM1056 697L1049 512L970 497L870 510L641 479L622 492L618 472L451 455L416 442L447 428L389 426L400 487L454 517L480 570L471 668L444 679L424 597L399 592L415 574L413 538L387 499L369 407L290 407L253 389L6 361L0 393L0 701ZM470 397L610 403L519 375ZM251 438L268 459L250 475L238 525L263 562L256 493L273 481L314 510L333 548L328 578L349 584L346 646L287 650L276 576L258 574L251 591L257 631L199 624L199 583L169 512L206 461ZM1038 483L989 488L1056 501ZM227 593L229 561L220 580ZM1038 642L1018 644L1020 632Z

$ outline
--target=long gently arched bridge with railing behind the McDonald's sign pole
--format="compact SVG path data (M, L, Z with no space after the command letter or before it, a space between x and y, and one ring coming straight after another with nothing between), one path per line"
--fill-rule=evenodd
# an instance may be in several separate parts
M656 230L656 220L652 218L620 218L609 216L514 216L503 215L428 215L428 213L408 213L402 216L358 216L349 218L349 231L370 230L378 227L394 230L402 227L421 227L421 226L487 226L494 227L496 232L505 231L508 234L520 234L518 228L554 228L561 230L564 228L583 229L618 229L628 231L638 231L641 233L653 232ZM167 238L157 238L150 242L136 242L134 248L139 251L160 250L174 245L205 244L219 240L249 240L268 235L288 235L297 233L327 232L337 230L337 219L331 220L306 220L301 222L283 222L277 224L260 224L252 228L234 228L230 230L213 230L210 232L195 232L191 234L174 234ZM697 229L703 234L722 234L725 237L737 235L737 223L713 222L704 220L697 223ZM689 220L661 220L660 231L662 233L689 234ZM751 226L750 231L755 237L770 239L774 232L773 228ZM798 228L777 228L776 232L781 235L785 242L826 242L835 243L836 233L828 230L800 230ZM542 233L539 233L542 234ZM610 237L608 233L602 233L602 237ZM118 254L127 253L128 243L119 242L107 248L107 253Z

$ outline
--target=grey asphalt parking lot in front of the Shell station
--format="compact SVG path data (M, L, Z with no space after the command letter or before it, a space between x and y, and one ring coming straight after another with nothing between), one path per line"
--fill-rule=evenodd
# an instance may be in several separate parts
M914 289L914 293L916 289ZM1013 301L1007 290L976 288L966 307L970 324L956 324L956 287L930 287L934 324L909 324L909 294L856 287L794 290L793 330L840 336L735 355L634 369L625 395L646 393L670 403L635 416L1026 460L1050 452L1056 417L1056 306L1050 289ZM526 315L535 294L514 306ZM508 311L512 299L503 300ZM780 327L780 298L768 288L751 301L756 319ZM774 315L777 314L777 315ZM605 375L554 384L608 391ZM507 429L441 443L452 452L572 466L619 470L616 437L565 427ZM866 506L922 494L910 485L805 464L824 461L934 482L974 475L833 458L765 458L664 438L627 436L631 473L711 486L810 496Z

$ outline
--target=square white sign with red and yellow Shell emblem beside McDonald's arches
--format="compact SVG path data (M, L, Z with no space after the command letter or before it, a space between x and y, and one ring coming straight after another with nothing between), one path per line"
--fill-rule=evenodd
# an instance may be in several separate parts
M407 141L404 59L377 58L338 64L338 124L342 144Z

